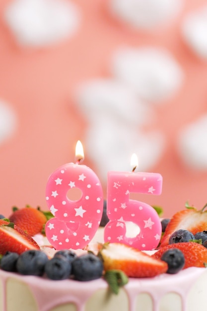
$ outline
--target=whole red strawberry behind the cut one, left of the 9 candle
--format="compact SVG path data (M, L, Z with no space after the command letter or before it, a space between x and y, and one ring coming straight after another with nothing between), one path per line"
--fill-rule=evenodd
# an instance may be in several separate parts
M47 218L39 209L25 207L22 209L13 208L13 213L9 217L9 220L23 231L33 236L37 233L41 233Z

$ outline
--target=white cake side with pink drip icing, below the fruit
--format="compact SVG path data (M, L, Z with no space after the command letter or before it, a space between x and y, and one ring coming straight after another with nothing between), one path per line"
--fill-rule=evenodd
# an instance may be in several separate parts
M207 270L134 279L109 291L103 279L51 281L0 270L0 311L205 311Z

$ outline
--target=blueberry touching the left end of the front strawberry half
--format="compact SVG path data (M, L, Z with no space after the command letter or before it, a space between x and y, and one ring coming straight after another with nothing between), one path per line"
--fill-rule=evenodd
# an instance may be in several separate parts
M72 261L72 273L78 281L99 279L103 273L103 262L91 253L81 255Z

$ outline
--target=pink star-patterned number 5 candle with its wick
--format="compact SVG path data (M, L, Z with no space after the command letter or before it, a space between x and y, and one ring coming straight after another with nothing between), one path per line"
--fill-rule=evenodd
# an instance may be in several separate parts
M136 166L134 167L134 169ZM146 172L108 172L105 242L120 242L140 250L155 249L161 237L161 223L156 211L146 203L131 200L130 193L161 194L162 176ZM126 223L133 222L140 232L126 236Z

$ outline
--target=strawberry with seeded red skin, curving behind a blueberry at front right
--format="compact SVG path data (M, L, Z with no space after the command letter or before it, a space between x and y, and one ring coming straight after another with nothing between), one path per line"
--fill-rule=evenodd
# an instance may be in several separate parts
M178 248L183 252L185 257L185 265L183 269L189 267L203 268L205 267L205 263L207 263L207 248L196 242L179 242L163 246L156 253L154 253L152 257L160 259L162 254L171 248Z

